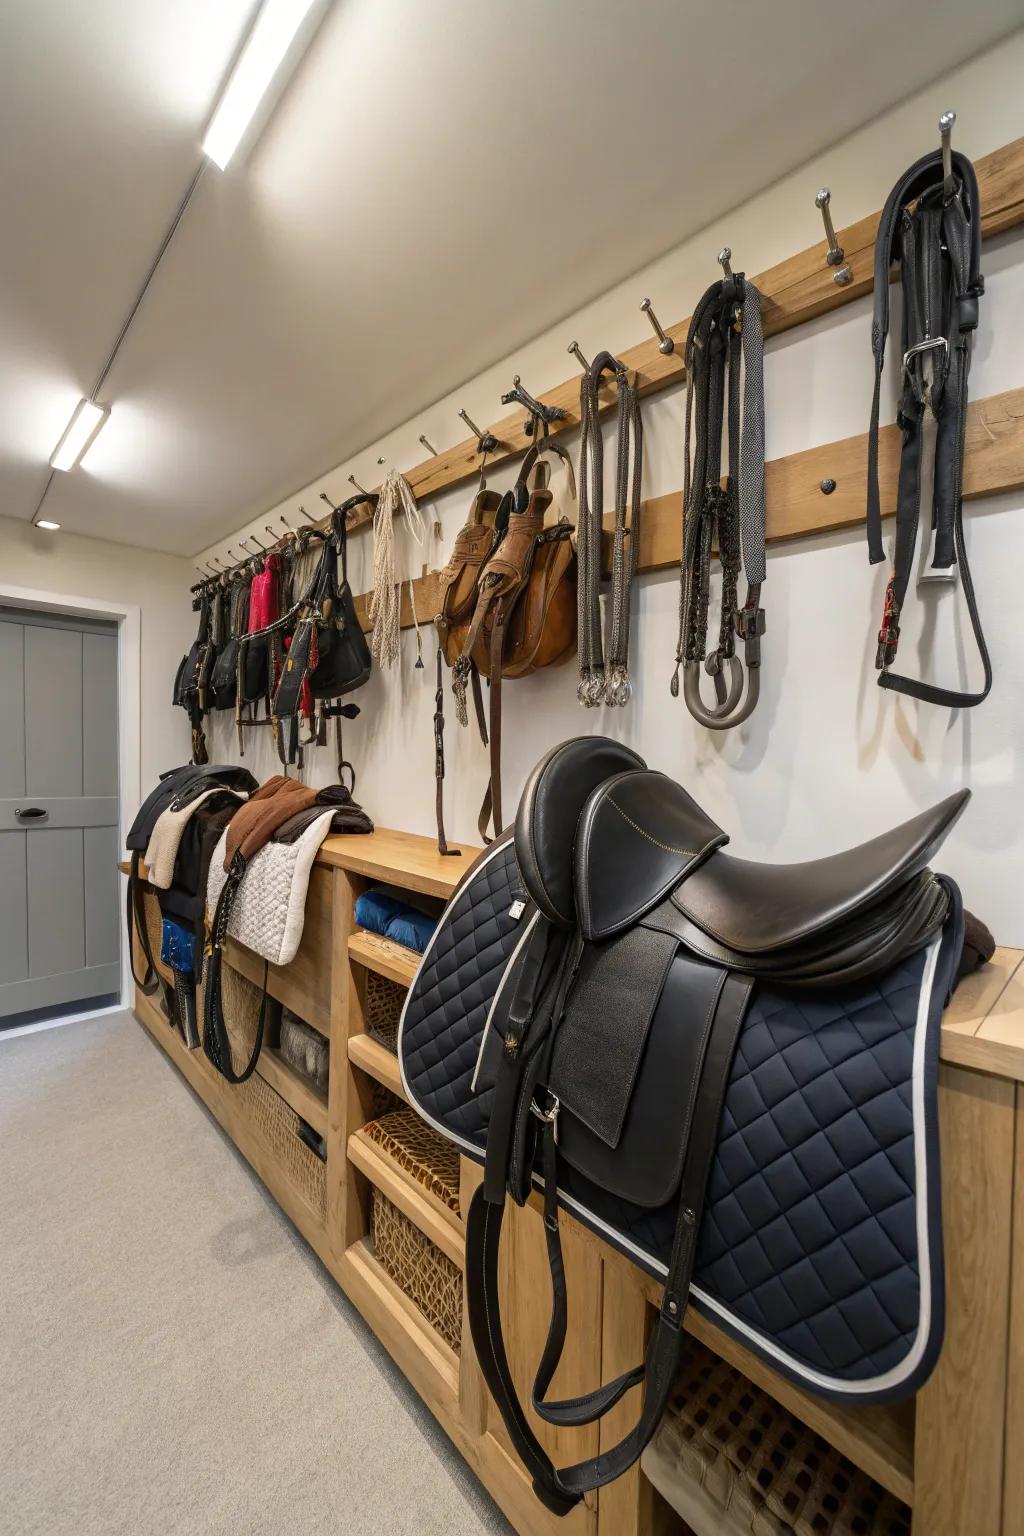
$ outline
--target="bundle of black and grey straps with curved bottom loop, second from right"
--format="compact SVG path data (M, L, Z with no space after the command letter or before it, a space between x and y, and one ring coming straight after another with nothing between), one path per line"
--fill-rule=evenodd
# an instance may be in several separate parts
M761 296L729 266L706 290L686 336L686 465L683 476L683 558L680 565L679 644L672 697L679 694L702 725L723 731L749 719L760 696L760 605L765 564L765 335ZM695 410L694 410L695 402ZM722 479L728 433L728 475ZM694 450L691 458L691 435ZM722 565L718 644L708 653L711 561ZM740 607L740 570L746 598ZM743 641L743 659L737 656ZM700 667L714 679L715 702L700 694Z

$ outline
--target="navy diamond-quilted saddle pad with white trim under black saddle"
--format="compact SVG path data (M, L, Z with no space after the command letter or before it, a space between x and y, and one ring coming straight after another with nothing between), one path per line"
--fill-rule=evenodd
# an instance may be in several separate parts
M732 1058L691 1303L821 1395L904 1396L943 1335L938 1032L961 945L946 926L870 982L758 980ZM399 1032L411 1104L484 1161L482 1060L539 912L516 845L468 872L424 954ZM663 1278L679 1198L637 1204L563 1163L559 1204Z

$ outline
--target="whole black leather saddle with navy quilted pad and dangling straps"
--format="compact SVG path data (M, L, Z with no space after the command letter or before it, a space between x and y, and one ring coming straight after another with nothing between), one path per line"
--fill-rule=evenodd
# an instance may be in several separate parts
M964 957L956 886L929 860L967 791L860 848L795 865L726 834L628 746L556 746L514 833L456 889L399 1028L411 1104L484 1181L467 1218L481 1369L557 1513L631 1465L695 1306L803 1387L906 1396L943 1336L935 1078ZM556 1468L513 1387L500 1324L505 1200L543 1192L553 1322L533 1410L636 1428ZM559 1207L665 1283L648 1358L551 1402L567 1333Z

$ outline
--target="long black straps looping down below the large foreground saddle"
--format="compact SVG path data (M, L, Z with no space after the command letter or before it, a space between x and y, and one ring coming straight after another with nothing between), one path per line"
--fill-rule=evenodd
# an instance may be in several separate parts
M548 1338L533 1390L534 1410L550 1424L580 1425L603 1418L622 1396L645 1384L643 1405L634 1428L609 1450L571 1467L557 1468L536 1438L516 1392L500 1322L499 1252L505 1190L496 1190L497 1167L493 1150L511 1146L511 1130L502 1120L516 1107L516 1083L522 1066L516 1057L502 1055L488 1129L485 1180L473 1197L467 1217L467 1304L473 1344L487 1385L500 1410L505 1428L533 1478L537 1498L556 1514L565 1514L591 1488L622 1476L637 1461L654 1435L672 1389L682 1349L682 1322L697 1253L697 1235L705 1195L717 1147L718 1121L729 1083L732 1055L749 1001L752 982L732 972L722 974L718 1001L709 1028L700 1071L692 1130L679 1189L679 1215L665 1293L651 1333L646 1359L594 1392L562 1402L545 1402L543 1393L554 1376L565 1344L568 1306L565 1266L557 1220L557 1101L547 1112L536 1111L543 1126L545 1240L551 1269L553 1312ZM497 1117L497 1123L496 1123ZM491 1147L491 1137L496 1147ZM500 1155L500 1154L499 1154Z

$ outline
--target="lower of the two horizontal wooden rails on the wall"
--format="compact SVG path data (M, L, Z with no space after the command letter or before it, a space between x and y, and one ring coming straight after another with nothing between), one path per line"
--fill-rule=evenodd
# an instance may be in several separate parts
M883 427L878 442L878 479L883 516L897 510L897 479L900 473L900 429ZM831 496L821 492L821 481L834 479ZM967 409L967 450L964 455L964 496L995 496L1024 487L1024 389L1006 390L987 399L972 401ZM867 433L841 438L820 449L788 453L766 465L766 502L769 541L795 539L808 533L847 528L864 521L867 498ZM613 515L605 518L605 573L609 571ZM656 571L677 565L682 551L682 495L669 492L643 502L640 511L640 553L637 570ZM864 554L867 559L867 554ZM410 628L408 582L402 585L402 628ZM439 574L425 571L413 581L416 621L430 624L438 611ZM356 611L364 628L368 619L370 594L356 598Z

